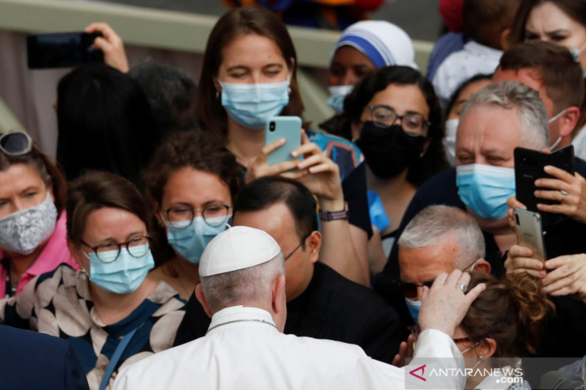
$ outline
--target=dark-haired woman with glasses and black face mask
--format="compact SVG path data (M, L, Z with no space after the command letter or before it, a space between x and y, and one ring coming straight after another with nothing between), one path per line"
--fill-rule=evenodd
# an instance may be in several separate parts
M386 212L386 223L378 227L384 252L376 240L369 243L369 263L380 271L417 187L448 167L441 108L419 71L384 67L364 77L346 97L336 132L362 150L367 187L380 197Z

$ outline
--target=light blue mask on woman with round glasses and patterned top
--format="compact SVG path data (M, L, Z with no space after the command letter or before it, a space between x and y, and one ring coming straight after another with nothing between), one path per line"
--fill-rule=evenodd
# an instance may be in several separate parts
M111 250L100 253L100 256L114 257L117 253L118 250ZM118 258L111 263L100 261L93 252L86 256L90 259L90 281L116 294L136 291L147 277L148 271L155 267L150 249L144 256L134 257L126 248L122 248Z

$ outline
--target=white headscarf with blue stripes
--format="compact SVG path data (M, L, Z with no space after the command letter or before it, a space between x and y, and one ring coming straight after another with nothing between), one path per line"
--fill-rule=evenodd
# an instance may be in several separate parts
M418 69L411 38L393 23L383 20L364 20L347 27L334 46L330 61L336 50L346 45L354 47L369 57L377 68L406 65Z

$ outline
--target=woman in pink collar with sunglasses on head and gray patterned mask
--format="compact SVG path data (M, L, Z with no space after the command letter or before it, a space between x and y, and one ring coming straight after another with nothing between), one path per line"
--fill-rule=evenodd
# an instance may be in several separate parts
M65 194L63 175L28 134L0 136L0 294L20 294L61 263L79 268L67 249Z

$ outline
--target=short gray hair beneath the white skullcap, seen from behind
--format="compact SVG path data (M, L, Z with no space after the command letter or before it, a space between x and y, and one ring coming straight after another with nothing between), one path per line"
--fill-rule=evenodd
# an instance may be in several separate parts
M243 270L202 277L203 294L212 312L237 305L269 305L272 281L285 274L283 254Z

